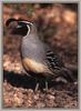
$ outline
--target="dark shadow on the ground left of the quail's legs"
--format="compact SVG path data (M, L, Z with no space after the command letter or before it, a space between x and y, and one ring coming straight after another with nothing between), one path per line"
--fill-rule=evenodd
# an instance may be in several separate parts
M13 71L9 72L3 70L3 80L7 80L13 87L22 87L27 89L34 89L37 84L33 78L28 77L27 74L21 75Z

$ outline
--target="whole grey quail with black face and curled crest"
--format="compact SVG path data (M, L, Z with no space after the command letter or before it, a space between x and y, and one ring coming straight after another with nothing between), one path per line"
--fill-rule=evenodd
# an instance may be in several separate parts
M26 72L37 80L43 78L45 89L48 89L50 80L61 74L73 80L71 71L65 68L62 59L54 53L48 43L40 40L34 23L23 19L10 18L7 20L6 26L10 28L11 34L21 38L21 61ZM38 87L39 83L36 89Z

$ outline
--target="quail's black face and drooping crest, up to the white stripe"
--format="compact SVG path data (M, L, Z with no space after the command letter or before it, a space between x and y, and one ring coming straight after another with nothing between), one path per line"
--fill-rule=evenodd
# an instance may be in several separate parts
M17 20L17 19L9 19L6 22L6 26L10 28L11 34L24 37L30 31L30 23L27 21L21 21L21 20Z

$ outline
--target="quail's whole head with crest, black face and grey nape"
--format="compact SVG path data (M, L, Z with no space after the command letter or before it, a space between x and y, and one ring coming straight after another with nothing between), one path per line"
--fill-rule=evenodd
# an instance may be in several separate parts
M8 19L6 26L11 30L10 34L27 36L29 33L36 32L36 27L33 23L22 20L22 19Z

